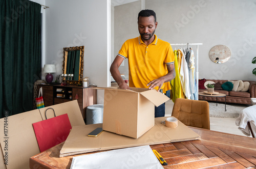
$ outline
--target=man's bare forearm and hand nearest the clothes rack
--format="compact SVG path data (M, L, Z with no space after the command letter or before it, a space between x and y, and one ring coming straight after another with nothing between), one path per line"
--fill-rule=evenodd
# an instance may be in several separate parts
M160 91L161 87L163 86L164 82L168 82L175 78L175 67L174 64L166 64L168 73L165 76L159 77L158 79L152 80L151 82L147 83L148 89L154 89L158 86L158 92Z

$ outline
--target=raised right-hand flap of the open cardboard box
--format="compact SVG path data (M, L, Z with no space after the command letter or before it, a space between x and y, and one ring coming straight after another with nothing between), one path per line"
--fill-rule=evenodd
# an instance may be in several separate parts
M157 92L155 89L147 90L145 92L141 92L140 94L150 100L155 106L160 106L170 99L161 92Z

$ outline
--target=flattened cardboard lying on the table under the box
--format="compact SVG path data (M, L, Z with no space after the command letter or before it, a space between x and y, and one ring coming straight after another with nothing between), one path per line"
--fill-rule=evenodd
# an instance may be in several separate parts
M65 144L60 150L60 157L98 150L112 150L200 139L200 135L189 129L180 121L178 127L175 129L168 128L164 124L161 124L165 118L166 117L155 118L156 125L137 139L108 131L103 131L97 137L87 136L87 134L97 127L101 127L102 124L73 127Z

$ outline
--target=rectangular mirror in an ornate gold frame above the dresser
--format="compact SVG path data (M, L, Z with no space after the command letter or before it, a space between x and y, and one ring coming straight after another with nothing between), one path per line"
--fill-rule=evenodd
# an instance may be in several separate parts
M84 46L63 48L63 78L70 84L82 83Z

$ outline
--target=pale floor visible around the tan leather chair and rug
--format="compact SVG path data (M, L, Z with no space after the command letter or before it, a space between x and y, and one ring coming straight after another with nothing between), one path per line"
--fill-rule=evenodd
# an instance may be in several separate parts
M172 115L173 106L174 106L174 103L172 100L169 100L165 103L165 116ZM244 105L237 105L237 106L244 106ZM246 136L238 129L238 126L235 123L236 119L237 118L211 118L210 117L210 130Z

